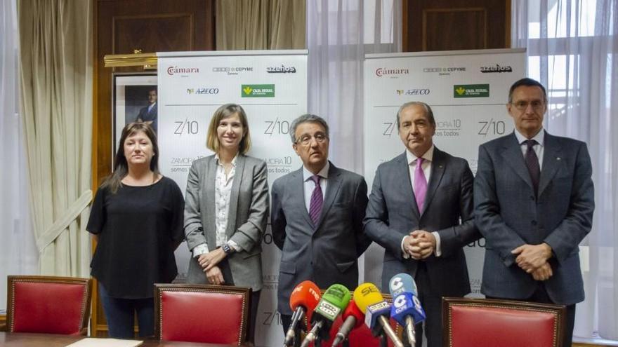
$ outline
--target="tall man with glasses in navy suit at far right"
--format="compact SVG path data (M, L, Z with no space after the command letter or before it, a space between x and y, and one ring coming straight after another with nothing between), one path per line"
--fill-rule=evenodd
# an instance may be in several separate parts
M584 300L579 243L594 210L586 144L543 129L544 86L521 79L508 93L515 131L482 144L474 183L475 221L485 239L481 291L487 297L567 305Z

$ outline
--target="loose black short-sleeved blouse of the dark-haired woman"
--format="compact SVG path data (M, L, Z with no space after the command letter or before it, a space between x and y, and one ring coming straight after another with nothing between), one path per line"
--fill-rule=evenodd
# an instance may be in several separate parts
M98 189L86 230L99 234L91 275L110 297L153 297L153 283L178 274L172 246L185 236L185 201L178 184L163 177L150 186Z

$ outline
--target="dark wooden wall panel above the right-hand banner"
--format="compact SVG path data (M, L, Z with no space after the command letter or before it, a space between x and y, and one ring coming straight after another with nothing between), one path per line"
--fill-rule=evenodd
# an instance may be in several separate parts
M510 0L403 0L403 50L510 46Z

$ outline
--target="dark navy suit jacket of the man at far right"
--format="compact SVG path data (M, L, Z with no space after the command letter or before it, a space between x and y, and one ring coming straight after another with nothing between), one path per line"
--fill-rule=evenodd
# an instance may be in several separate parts
M474 186L475 219L487 240L481 291L525 299L537 281L515 264L511 250L547 243L553 276L544 281L556 304L584 300L579 243L594 210L592 165L586 144L545 133L538 198L515 134L482 144Z

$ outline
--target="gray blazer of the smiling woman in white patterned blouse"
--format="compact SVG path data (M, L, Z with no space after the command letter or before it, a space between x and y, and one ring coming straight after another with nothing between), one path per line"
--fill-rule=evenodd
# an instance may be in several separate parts
M204 242L209 250L216 249L216 168L215 156L208 156L194 161L189 171L185 196L185 236L189 250ZM264 161L238 155L225 231L228 240L242 247L242 252L227 257L234 284L251 287L254 291L262 288L262 236L268 217L267 172ZM189 263L188 281L206 283L206 275L193 257Z

